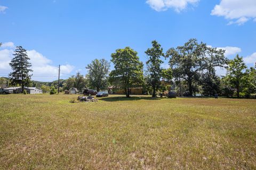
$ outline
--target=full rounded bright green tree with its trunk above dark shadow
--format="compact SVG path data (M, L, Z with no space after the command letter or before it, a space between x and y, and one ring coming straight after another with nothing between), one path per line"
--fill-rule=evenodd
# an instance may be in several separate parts
M109 81L118 82L126 97L130 97L130 88L140 86L143 82L143 64L137 54L130 47L117 49L116 53L111 54L115 69L110 72Z

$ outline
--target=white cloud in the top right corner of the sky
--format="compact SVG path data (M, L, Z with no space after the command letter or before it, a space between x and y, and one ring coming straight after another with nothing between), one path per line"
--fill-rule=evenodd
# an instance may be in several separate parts
M242 25L250 19L256 20L255 0L221 0L215 5L211 15L224 16L228 24Z

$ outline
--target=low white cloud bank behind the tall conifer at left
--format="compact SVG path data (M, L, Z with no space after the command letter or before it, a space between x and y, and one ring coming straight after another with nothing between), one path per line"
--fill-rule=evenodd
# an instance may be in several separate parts
M38 53L36 50L27 50L28 57L30 58L30 63L32 64L31 69L33 70L32 77L33 80L38 81L52 81L58 79L58 66L54 66L52 61ZM13 49L3 49L0 50L0 73L6 74L11 72L11 67L9 65L11 59L13 58ZM74 70L74 66L66 64L61 65L61 75L70 74ZM5 75L7 77L7 75ZM43 76L43 77L41 77Z

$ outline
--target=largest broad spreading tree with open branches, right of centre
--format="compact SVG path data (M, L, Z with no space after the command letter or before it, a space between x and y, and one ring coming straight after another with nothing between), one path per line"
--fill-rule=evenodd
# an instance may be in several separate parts
M227 62L224 53L225 50L217 50L204 43L198 44L197 39L190 39L183 46L167 50L166 57L170 58L174 77L186 80L189 95L192 95L193 81L199 81L203 71L209 67L223 66Z

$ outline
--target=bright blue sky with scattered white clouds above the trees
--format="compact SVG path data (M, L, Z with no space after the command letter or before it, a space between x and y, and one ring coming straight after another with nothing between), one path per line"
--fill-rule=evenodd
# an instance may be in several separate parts
M110 60L126 46L145 62L155 39L166 51L197 38L227 47L229 58L244 56L248 66L256 61L255 0L0 0L0 22L0 77L20 45L41 81L55 80L36 76L55 76L59 64L62 78L85 74L92 60Z

